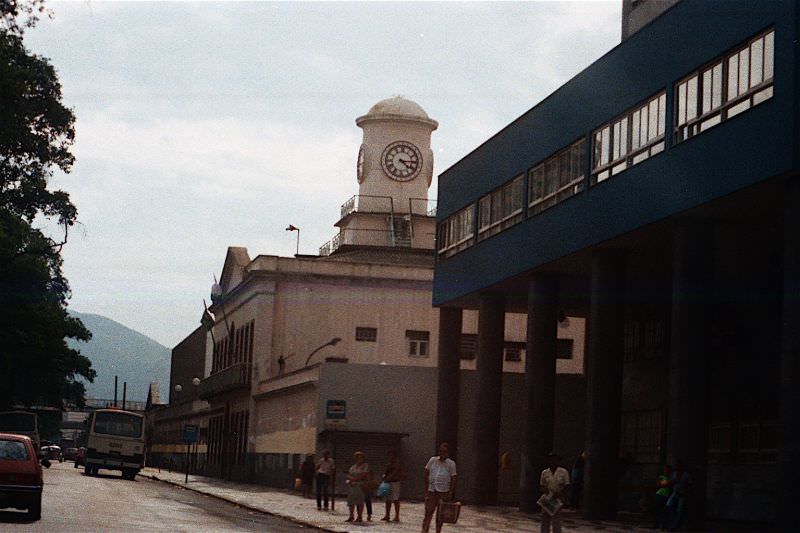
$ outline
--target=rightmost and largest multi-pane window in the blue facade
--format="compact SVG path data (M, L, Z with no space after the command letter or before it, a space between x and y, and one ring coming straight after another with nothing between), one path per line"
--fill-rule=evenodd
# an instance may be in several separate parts
M768 30L675 86L675 142L772 98L775 31Z

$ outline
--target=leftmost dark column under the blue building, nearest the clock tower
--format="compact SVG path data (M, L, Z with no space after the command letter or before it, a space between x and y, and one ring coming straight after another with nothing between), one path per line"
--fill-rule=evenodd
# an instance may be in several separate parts
M458 456L458 401L461 362L461 324L458 307L439 309L438 388L436 391L436 446L450 445L450 457ZM431 448L432 450L435 447Z

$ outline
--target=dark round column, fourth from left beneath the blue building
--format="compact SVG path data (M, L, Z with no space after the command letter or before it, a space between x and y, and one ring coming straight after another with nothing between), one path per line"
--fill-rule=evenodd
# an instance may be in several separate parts
M617 511L617 456L622 404L625 255L592 255L592 286L586 361L585 514L613 518Z

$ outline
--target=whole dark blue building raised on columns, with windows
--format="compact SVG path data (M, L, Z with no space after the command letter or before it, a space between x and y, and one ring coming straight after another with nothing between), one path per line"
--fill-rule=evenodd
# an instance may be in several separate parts
M586 317L586 515L683 463L692 520L798 531L800 2L668 4L441 174L438 437L474 440L494 502L503 314L527 312L533 510L559 417L556 323ZM480 313L480 392L460 413L475 435L454 433L447 370L463 309Z

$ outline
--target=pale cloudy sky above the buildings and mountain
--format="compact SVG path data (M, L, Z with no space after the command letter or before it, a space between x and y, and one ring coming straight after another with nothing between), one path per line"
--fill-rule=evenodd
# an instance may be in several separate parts
M51 183L78 208L70 308L173 347L228 246L291 256L289 224L301 253L333 237L373 104L439 122L435 176L616 46L621 5L50 1L25 41L77 117Z

